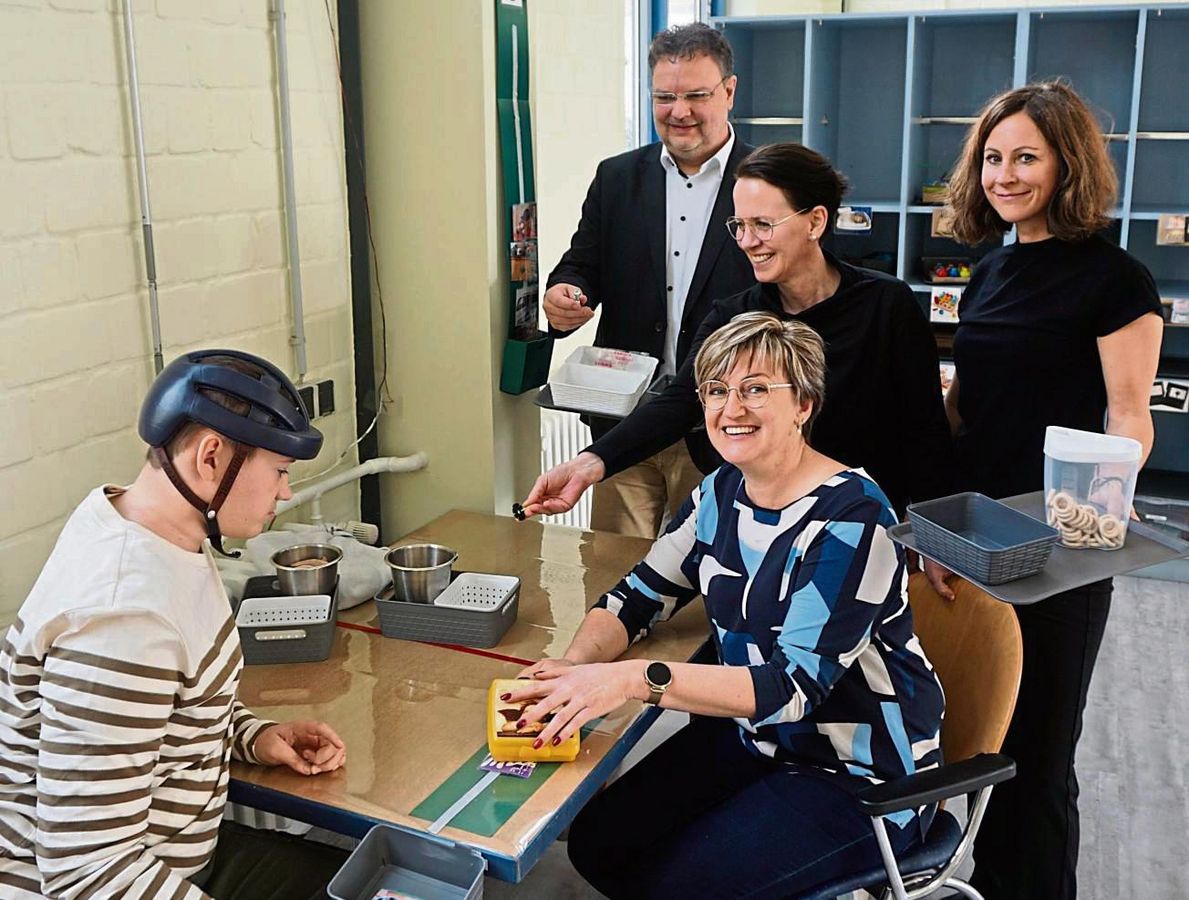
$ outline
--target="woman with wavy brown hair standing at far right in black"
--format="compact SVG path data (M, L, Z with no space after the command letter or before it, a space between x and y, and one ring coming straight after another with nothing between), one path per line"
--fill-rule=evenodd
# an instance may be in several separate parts
M1160 306L1144 265L1102 237L1115 190L1102 130L1067 84L1000 94L970 128L950 178L954 232L974 245L1014 226L1015 241L982 258L962 296L945 399L962 490L1040 490L1048 426L1151 449ZM1017 774L995 788L974 851L987 900L1076 896L1074 755L1111 590L1015 608L1024 673L1004 753Z

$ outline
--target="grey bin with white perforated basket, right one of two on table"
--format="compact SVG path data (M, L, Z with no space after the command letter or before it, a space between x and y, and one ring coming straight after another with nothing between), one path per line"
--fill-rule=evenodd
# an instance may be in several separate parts
M385 637L464 647L495 647L516 621L518 608L518 578L473 572L460 572L434 603L397 600L391 585L376 594Z

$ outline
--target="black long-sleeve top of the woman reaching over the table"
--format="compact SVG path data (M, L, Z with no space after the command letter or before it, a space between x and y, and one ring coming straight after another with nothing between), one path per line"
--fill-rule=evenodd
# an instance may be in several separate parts
M647 459L703 422L693 360L710 334L741 313L765 310L797 319L825 342L825 402L810 443L862 467L897 512L911 502L952 492L949 423L942 402L937 345L907 284L848 265L826 253L842 279L832 296L787 313L774 284L756 284L716 301L693 347L661 396L638 408L586 449L608 476ZM705 433L690 441L703 472L722 464Z

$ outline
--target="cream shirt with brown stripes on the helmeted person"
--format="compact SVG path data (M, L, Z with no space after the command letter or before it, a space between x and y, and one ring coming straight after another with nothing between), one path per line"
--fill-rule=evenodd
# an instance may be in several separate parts
M202 898L232 754L266 722L209 550L94 490L0 644L0 896Z

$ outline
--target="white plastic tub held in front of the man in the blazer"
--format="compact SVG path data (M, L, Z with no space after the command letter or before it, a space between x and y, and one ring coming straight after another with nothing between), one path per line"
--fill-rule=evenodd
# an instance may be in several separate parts
M636 408L656 371L642 353L579 347L549 379L555 405L623 417Z

